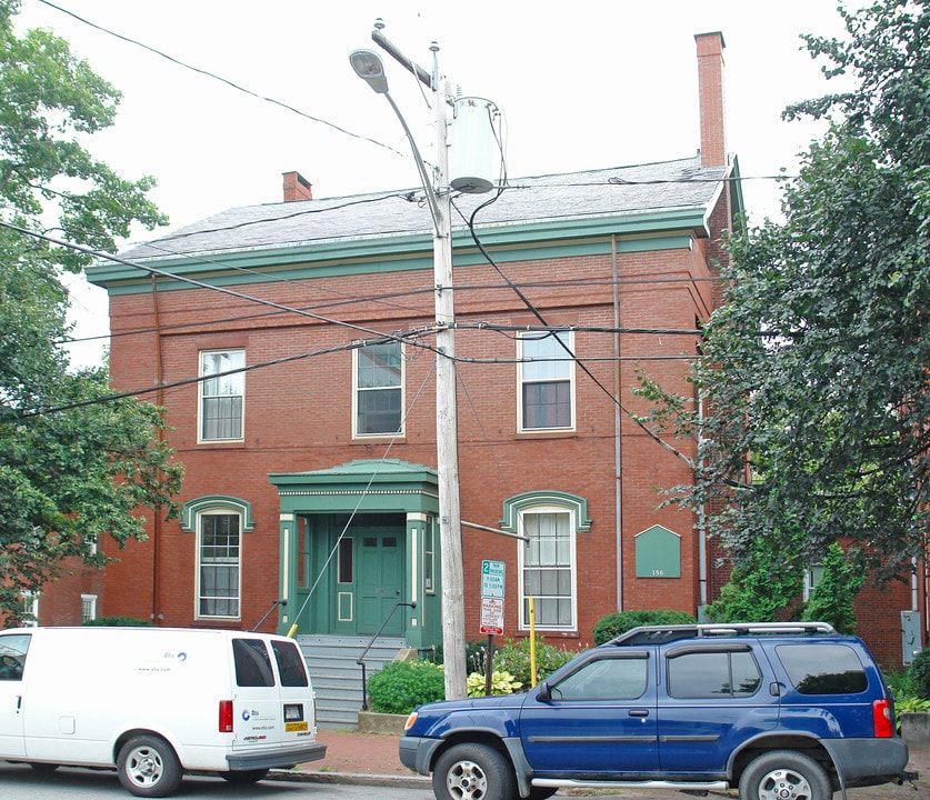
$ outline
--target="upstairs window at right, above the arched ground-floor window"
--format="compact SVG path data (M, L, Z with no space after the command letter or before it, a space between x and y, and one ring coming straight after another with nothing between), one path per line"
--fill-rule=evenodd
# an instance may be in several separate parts
M574 428L573 346L571 331L526 332L518 339L519 430Z

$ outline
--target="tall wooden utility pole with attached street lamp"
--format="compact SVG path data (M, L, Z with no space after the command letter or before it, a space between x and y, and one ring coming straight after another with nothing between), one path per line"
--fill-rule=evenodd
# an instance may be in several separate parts
M413 158L427 196L433 221L433 286L436 289L436 459L439 481L439 549L442 580L442 651L446 661L446 697L463 698L467 694L466 640L464 640L464 587L462 576L462 527L459 502L459 433L456 399L456 329L452 294L452 217L449 189L449 150L446 98L439 80L433 44L432 73L406 58L388 41L376 23L371 38L390 56L410 70L418 80L432 90L436 113L437 163L433 179L420 156L420 149L403 119L400 109L388 91L384 67L377 53L356 50L349 57L352 69L378 94L390 103L413 150Z

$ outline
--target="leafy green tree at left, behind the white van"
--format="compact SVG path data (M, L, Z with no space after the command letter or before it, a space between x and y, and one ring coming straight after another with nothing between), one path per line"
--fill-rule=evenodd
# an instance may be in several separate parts
M159 410L108 389L103 369L72 371L62 271L114 252L138 221L166 219L81 144L112 124L119 92L47 31L12 29L0 0L0 618L94 543L144 537L142 507L177 512L182 469L161 441ZM73 249L43 238L83 246Z

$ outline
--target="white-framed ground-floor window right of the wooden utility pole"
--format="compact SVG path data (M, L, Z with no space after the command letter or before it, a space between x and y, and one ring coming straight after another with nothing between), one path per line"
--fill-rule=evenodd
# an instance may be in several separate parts
M529 628L530 598L536 627L573 630L576 627L574 523L571 511L524 509L520 548L520 627Z

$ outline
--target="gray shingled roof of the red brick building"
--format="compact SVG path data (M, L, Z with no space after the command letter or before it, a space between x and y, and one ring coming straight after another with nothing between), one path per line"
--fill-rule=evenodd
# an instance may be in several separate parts
M709 208L727 168L702 168L700 154L677 161L512 179L476 218L479 229L610 216ZM492 194L453 197L468 217ZM454 228L462 217L452 211ZM229 209L152 242L124 258L231 253L239 250L378 238L432 230L422 189L266 203Z

